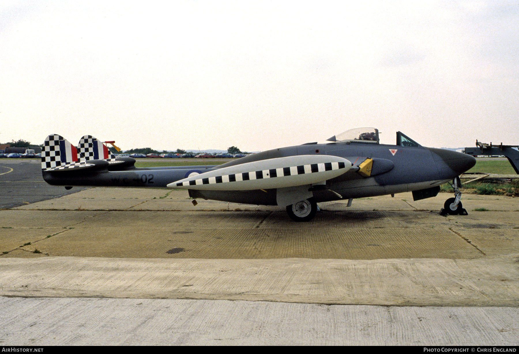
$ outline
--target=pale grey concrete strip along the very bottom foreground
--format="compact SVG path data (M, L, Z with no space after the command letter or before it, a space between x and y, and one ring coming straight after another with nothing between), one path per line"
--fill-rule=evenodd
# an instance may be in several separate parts
M0 306L8 346L513 346L519 334L511 307L131 298L0 298Z

